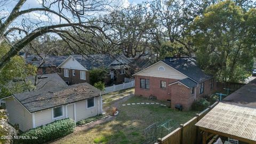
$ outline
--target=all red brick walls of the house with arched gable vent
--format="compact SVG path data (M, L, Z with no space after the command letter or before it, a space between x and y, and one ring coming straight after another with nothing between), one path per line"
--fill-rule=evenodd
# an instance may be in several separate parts
M140 88L140 78L149 79L149 89ZM166 81L166 89L160 87L161 81ZM213 93L216 89L216 82L214 82L213 89L210 89L210 79L204 82L204 93L199 94L200 86L195 87L194 94L191 94L191 89L182 84L168 85L178 79L149 77L149 76L135 76L135 95L142 95L149 98L154 95L158 100L171 100L171 107L174 109L175 105L182 105L184 110L189 110L195 100L201 99L204 95Z

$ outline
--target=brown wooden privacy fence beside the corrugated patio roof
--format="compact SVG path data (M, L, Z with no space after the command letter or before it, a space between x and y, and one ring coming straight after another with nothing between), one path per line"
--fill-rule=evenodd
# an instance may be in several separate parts
M202 119L213 107L218 104L218 101L212 106L196 114L185 124L180 124L180 127L173 132L167 134L164 138L158 138L155 144L194 144L201 141L202 135L195 124Z

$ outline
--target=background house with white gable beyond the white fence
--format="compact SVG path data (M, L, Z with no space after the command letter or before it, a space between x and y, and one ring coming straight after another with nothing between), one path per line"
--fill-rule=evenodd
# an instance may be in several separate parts
M89 70L105 68L108 74L105 84L123 83L131 61L123 55L117 58L108 54L70 55L58 68L61 78L68 84L89 83Z

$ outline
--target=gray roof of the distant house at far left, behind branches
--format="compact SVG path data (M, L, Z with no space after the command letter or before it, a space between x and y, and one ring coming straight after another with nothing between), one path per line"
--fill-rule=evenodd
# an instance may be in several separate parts
M41 57L39 57L38 55L27 55L27 56L23 56L23 58L26 60L27 63L31 63L32 65L38 67L39 63L41 63L43 61L43 59ZM44 56L43 56L44 58ZM46 55L45 57L45 62L43 63L43 65L41 67L58 67L60 65L60 63L62 63L64 60L66 60L68 58L68 56L57 56L57 55Z

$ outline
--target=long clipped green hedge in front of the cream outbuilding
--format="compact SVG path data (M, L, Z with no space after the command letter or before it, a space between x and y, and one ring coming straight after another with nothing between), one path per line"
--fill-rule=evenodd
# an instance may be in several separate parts
M36 127L21 134L24 137L37 137L37 139L22 139L18 143L44 143L51 141L67 134L73 133L76 123L73 119L66 118L55 121L53 123Z

